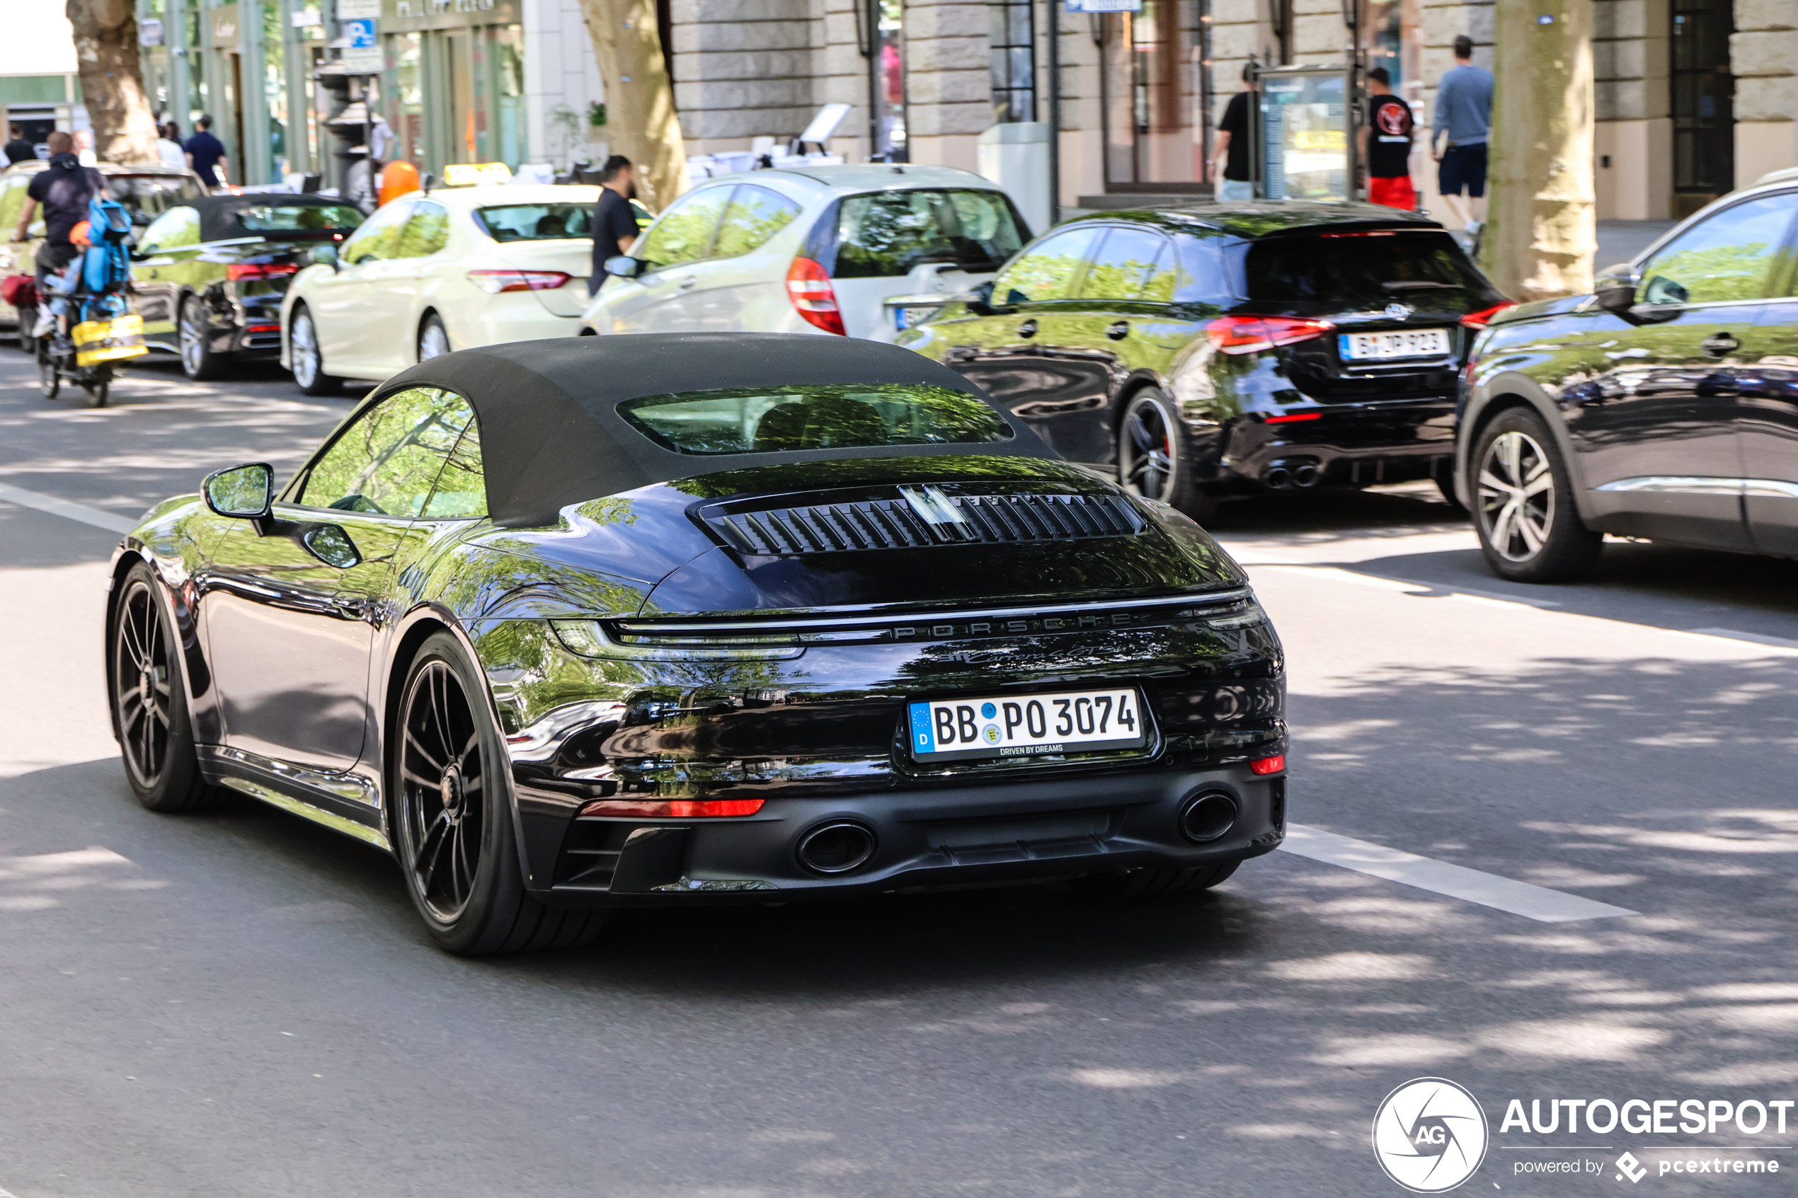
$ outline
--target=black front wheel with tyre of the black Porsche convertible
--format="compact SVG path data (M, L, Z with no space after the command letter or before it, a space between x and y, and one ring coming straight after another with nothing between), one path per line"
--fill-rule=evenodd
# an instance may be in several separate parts
M223 794L200 774L180 639L169 634L162 582L138 562L124 578L111 618L111 718L124 774L153 812L214 806Z

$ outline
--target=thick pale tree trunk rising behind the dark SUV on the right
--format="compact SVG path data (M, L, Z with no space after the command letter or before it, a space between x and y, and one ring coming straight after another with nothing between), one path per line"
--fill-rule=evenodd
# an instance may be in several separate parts
M1597 250L1591 0L1500 0L1492 9L1492 190L1482 266L1519 302L1584 295Z

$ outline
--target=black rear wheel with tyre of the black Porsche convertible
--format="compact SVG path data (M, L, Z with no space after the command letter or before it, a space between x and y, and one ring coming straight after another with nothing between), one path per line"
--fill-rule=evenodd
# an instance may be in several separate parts
M505 749L480 672L448 632L419 647L390 738L406 891L439 947L464 956L590 943L601 911L525 893Z

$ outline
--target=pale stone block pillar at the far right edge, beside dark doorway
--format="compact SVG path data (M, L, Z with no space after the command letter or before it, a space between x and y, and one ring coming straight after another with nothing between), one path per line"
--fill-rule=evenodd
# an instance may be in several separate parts
M1735 185L1798 165L1798 0L1735 0Z

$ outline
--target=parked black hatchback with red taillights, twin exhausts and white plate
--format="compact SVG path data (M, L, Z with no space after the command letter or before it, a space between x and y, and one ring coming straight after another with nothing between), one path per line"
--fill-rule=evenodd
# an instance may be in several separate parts
M1059 225L899 345L1203 517L1226 494L1415 478L1453 499L1456 372L1501 307L1420 216L1201 203Z

